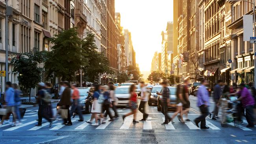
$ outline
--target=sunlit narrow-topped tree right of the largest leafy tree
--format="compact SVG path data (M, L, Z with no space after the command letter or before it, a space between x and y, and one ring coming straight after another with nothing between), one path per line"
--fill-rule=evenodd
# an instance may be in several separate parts
M109 60L105 56L104 52L98 52L98 47L95 44L95 35L88 33L87 37L82 41L84 59L88 60L88 64L83 67L85 81L98 80L99 74L113 74L110 69Z

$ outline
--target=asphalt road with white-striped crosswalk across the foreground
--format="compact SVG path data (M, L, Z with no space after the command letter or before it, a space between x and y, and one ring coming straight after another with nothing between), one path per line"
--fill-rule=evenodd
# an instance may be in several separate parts
M190 96L191 111L189 119L194 120L199 116L196 107L196 97ZM210 110L214 108L213 102ZM56 103L53 104L56 107ZM120 118L113 122L107 122L100 126L90 126L84 122L78 122L78 116L72 119L72 126L61 125L62 120L56 120L52 127L48 127L43 120L42 127L34 127L37 124L38 107L27 108L23 118L23 125L11 127L8 124L0 127L1 144L256 144L256 128L246 128L246 120L239 126L221 127L219 121L207 118L210 129L198 129L195 123L182 124L177 118L173 124L162 126L163 114L157 111L156 105L148 106L149 120L132 124L132 116L123 122L121 115L130 109L118 109ZM56 111L56 109L54 109ZM172 115L173 112L169 114ZM84 120L89 120L91 114L84 114ZM137 120L142 118L138 112ZM38 129L39 128L39 129Z

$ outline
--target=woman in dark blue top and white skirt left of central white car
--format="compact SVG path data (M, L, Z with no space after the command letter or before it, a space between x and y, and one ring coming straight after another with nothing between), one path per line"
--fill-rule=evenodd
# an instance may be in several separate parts
M93 96L93 105L91 109L91 119L89 121L86 121L89 124L92 124L93 118L95 118L95 124L92 124L92 126L98 126L98 114L101 112L101 103L98 103L98 98L100 96L100 85L98 83L94 83L94 92L91 93Z

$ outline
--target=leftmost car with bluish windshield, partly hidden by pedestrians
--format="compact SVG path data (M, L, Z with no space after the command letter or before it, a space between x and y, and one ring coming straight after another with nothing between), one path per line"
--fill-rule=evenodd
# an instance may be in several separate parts
M93 87L78 87L77 88L80 94L79 104L82 110L82 113L89 114L91 113L91 106L93 104L93 96L87 92L93 92ZM71 93L73 90L71 90ZM57 111L60 108L59 102L57 103ZM76 112L76 111L75 111Z

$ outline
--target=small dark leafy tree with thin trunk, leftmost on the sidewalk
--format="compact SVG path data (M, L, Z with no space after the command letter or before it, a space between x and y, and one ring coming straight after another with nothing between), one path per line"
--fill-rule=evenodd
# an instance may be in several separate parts
M42 80L43 68L38 67L38 64L45 62L46 54L46 51L39 52L37 48L33 48L30 52L11 59L11 64L14 66L13 72L19 73L19 84L24 89L29 89L29 102L31 88L34 89Z

